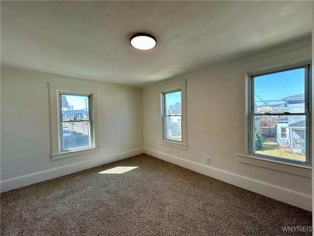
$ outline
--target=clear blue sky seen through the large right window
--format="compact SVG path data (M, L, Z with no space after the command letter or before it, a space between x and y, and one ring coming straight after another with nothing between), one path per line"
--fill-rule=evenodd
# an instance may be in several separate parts
M304 93L304 68L255 77L257 105L284 103L282 98ZM274 102L270 102L274 101Z

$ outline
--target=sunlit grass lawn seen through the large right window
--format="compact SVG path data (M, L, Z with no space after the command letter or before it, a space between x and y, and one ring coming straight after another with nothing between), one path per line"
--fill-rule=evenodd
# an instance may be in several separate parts
M276 138L263 138L263 147L256 153L305 161L305 155L294 154L289 147L278 146Z

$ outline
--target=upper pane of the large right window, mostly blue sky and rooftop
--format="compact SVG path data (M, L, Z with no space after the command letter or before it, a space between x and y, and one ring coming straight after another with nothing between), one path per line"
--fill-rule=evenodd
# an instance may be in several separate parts
M254 77L254 113L304 113L305 68Z

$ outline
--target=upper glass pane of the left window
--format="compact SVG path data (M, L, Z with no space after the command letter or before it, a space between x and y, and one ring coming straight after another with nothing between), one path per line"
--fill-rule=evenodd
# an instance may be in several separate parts
M62 121L89 119L89 96L62 94L61 101Z

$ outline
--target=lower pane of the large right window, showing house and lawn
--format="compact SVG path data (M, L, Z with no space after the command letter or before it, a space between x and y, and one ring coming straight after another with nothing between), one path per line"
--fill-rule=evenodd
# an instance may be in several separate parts
M255 116L254 153L305 161L306 116Z

